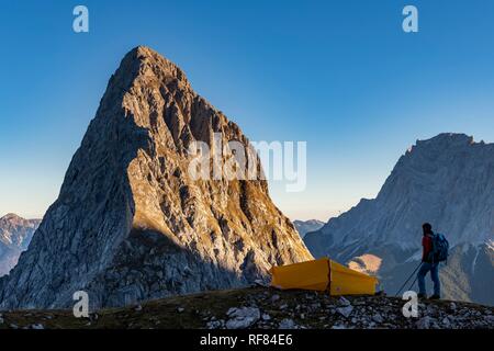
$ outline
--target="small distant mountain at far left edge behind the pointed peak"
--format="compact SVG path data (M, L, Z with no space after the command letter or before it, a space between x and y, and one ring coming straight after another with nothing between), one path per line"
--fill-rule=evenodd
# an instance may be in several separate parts
M19 256L27 249L40 219L24 219L10 213L0 218L0 276L18 263Z

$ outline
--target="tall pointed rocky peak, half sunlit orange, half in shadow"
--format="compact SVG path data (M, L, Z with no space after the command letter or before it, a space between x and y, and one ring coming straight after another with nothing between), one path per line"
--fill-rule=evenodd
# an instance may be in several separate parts
M19 264L0 280L0 308L91 308L245 285L273 264L311 259L254 180L194 180L192 141L247 137L198 95L182 70L147 47L111 77L60 194ZM227 158L233 155L223 155Z

